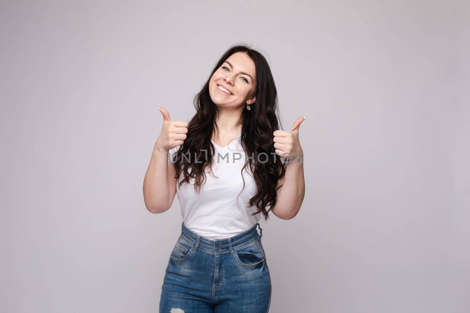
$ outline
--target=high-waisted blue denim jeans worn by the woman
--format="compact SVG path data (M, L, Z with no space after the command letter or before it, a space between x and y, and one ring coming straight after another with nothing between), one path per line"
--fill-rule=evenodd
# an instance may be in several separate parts
M209 240L181 224L168 260L160 313L267 313L271 276L256 223L234 237Z

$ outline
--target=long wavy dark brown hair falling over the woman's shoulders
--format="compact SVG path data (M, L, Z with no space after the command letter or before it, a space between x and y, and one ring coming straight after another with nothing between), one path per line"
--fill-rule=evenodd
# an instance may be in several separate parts
M180 180L179 187L183 183L189 183L190 179L194 179L194 188L196 192L199 192L206 179L205 168L209 167L212 171L211 164L215 151L211 138L214 132L219 132L216 120L221 110L211 100L209 81L214 72L222 66L222 63L236 52L246 53L254 61L256 69L254 92L256 100L251 104L251 110L243 110L242 117L237 124L237 126L242 126L240 142L243 150L248 156L253 156L253 158L246 158L242 172L249 166L258 187L258 192L247 205L249 207L256 205L258 210L252 215L261 212L265 221L267 221L268 212L277 202L277 190L282 187L280 185L276 188L278 180L285 175L281 157L275 153L273 143L273 132L280 129L278 121L279 107L271 69L265 57L248 45L238 44L229 47L217 61L202 90L194 97L196 114L188 122L187 137L176 151L173 159L176 172L175 178L180 178L181 173L183 173L184 178ZM201 150L206 152L201 152ZM258 159L260 153L266 153L267 156L262 154ZM183 154L185 154L185 158L183 158ZM194 158L188 158L188 155L194 156ZM265 161L266 159L267 161ZM243 188L244 186L245 181L243 179ZM266 210L268 205L269 210Z

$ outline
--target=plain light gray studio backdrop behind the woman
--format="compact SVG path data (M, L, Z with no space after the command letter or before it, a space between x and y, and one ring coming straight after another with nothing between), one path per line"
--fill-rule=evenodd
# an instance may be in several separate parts
M1 312L157 312L165 107L267 53L306 194L262 223L272 313L470 311L468 1L1 1Z

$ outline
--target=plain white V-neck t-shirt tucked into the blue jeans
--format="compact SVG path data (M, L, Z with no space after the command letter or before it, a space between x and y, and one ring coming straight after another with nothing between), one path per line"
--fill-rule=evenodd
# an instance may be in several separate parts
M249 165L243 169L242 178L241 170L247 156L240 139L241 135L225 147L220 147L212 141L215 148L212 171L217 178L206 168L206 180L199 193L194 190L194 179L190 180L191 184L185 182L181 189L177 185L176 194L180 201L184 225L201 237L211 240L233 237L251 229L261 219L261 213L251 215L258 210L256 205L247 207L258 188L251 176ZM169 151L169 160L172 160L173 154L179 148L180 146L177 146ZM194 158L194 154L192 157ZM194 162L194 159L191 161Z

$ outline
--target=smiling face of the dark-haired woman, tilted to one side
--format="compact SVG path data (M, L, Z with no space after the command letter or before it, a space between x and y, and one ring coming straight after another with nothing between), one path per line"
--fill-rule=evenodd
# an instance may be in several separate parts
M212 75L209 81L209 94L212 102L219 107L243 109L246 104L256 101L253 95L255 84L255 62L246 53L236 52L230 55Z

